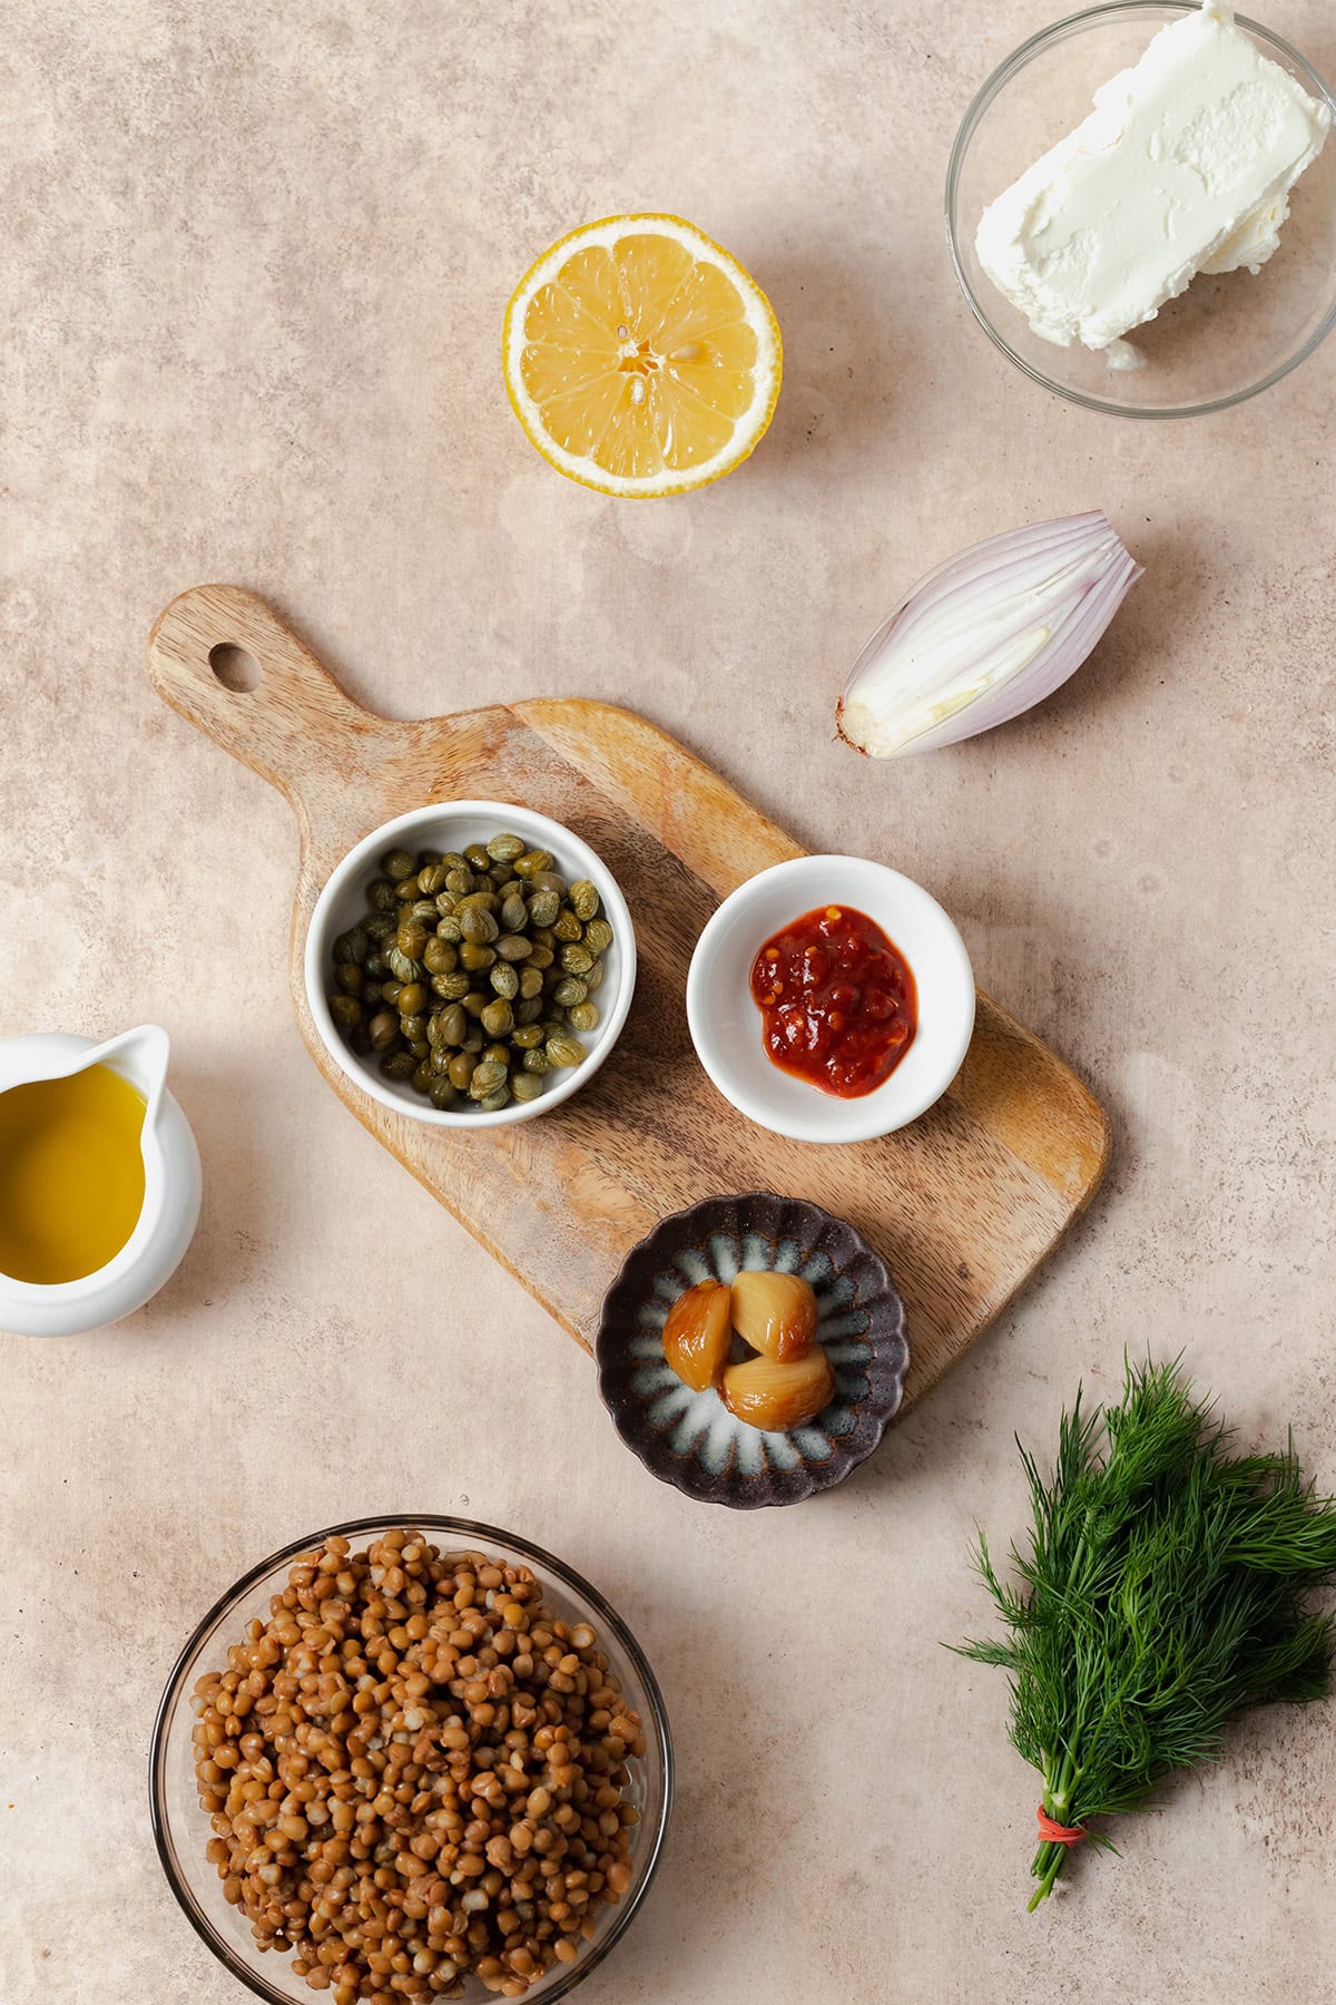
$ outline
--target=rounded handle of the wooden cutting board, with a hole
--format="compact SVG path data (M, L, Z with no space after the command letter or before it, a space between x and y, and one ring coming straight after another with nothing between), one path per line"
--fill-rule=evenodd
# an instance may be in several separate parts
M252 688L224 682L234 650L258 668ZM278 616L240 585L196 585L158 614L148 636L158 696L244 760L302 810L312 770L351 772L385 728L347 696Z

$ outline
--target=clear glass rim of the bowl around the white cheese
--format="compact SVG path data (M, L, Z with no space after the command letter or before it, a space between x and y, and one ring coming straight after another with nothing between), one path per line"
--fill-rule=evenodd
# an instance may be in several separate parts
M1078 34L1084 28L1092 28L1098 22L1118 20L1124 14L1126 16L1136 16L1136 14L1150 16L1156 12L1192 14L1196 12L1200 0L1102 0L1100 6L1082 8L1078 14L1064 14L1062 20L1054 20L1048 24L1048 28L1036 30L1036 34L1028 36L1020 44L1020 48L1014 48L1010 56L1004 56L997 68L975 90L969 108L965 110L965 116L959 122L959 132L955 134L955 144L951 146L951 158L945 170L947 251L951 255L951 269L955 271L955 283L959 285L965 297L965 305L973 313L975 321L979 323L987 339L993 343L993 347L1001 349L1008 361L1014 363L1022 371L1022 375L1028 375L1032 383L1038 383L1042 389L1052 391L1054 397L1064 397L1068 403L1078 403L1086 411L1100 411L1108 417L1138 417L1138 419L1206 417L1210 411L1228 411L1236 403L1246 403L1250 397L1260 395L1260 391L1270 389L1274 383L1280 383L1282 377L1288 377L1292 369L1298 369L1300 363L1308 361L1308 357L1318 347L1322 347L1332 327L1336 327L1336 293L1334 293L1326 313L1322 315L1314 331L1308 335L1308 339L1302 341L1300 347L1292 355L1288 355L1282 363L1276 363L1274 369L1268 369L1266 375L1258 377L1256 383L1250 383L1246 389L1230 391L1228 397L1206 397L1200 399L1198 403L1178 403L1152 411L1140 405L1116 403L1112 397L1096 397L1090 391L1072 389L1066 383L1058 383L1044 369L1040 369L1038 363L1028 361L1020 353L1020 349L1016 349L1008 341L1001 329L993 325L987 307L983 305L973 285L969 283L959 253L959 231L955 227L959 176L965 162L965 152L969 150L969 142L973 140L973 134L977 132L983 114L987 112L993 98L1006 88L1006 84L1012 82L1014 76L1018 76L1024 68L1028 68L1030 62L1036 56L1040 56L1046 48L1056 46L1058 42L1066 42L1068 36ZM1308 56L1300 54L1300 50L1294 48L1292 42L1286 42L1284 36L1276 34L1274 28L1262 26L1262 22L1252 20L1248 14L1236 14L1234 20L1240 28L1244 28L1250 36L1254 36L1254 40L1270 44L1270 48L1274 48L1302 72L1312 92L1332 112L1332 124L1336 126L1336 94L1332 92L1326 78L1312 66Z

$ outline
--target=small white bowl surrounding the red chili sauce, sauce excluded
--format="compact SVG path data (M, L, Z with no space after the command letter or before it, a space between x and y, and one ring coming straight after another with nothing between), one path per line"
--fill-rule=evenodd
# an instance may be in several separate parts
M751 962L771 934L821 904L865 912L909 962L917 1031L891 1077L839 1099L781 1071L751 1000ZM973 970L959 932L913 878L859 856L795 856L739 884L705 926L687 974L697 1057L739 1113L793 1141L869 1141L917 1121L955 1079L973 1031Z

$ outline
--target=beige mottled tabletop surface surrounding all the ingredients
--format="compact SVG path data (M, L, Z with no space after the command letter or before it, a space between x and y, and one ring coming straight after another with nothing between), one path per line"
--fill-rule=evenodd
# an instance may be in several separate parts
M1182 1345L1336 1484L1336 343L1180 427L987 347L945 154L1050 12L10 0L0 1031L166 1023L206 1199L146 1311L0 1339L6 2005L240 2005L152 1855L152 1706L230 1578L375 1508L549 1542L663 1678L677 1823L589 2005L1332 1997L1336 1712L1256 1718L1026 1917L1036 1780L1001 1678L939 1648L985 1620L975 1518L1020 1530L1012 1430L1044 1448L1124 1345ZM1322 0L1268 18L1330 74ZM787 347L751 465L657 505L549 473L497 369L531 257L637 207L733 247ZM889 770L827 742L915 575L1100 503L1148 575L1042 716ZM929 884L1108 1101L1086 1223L843 1490L735 1516L655 1486L587 1359L324 1091L284 992L288 810L142 674L212 577L391 714L645 712Z

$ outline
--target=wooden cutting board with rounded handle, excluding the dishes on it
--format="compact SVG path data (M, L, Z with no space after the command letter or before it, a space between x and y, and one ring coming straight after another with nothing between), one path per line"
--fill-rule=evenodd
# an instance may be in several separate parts
M214 674L240 648L260 680ZM469 1231L593 1347L629 1247L699 1197L779 1191L847 1217L889 1261L909 1311L905 1406L973 1343L1090 1201L1108 1157L1098 1101L979 994L955 1085L881 1141L811 1147L723 1101L687 1035L691 948L743 878L803 854L665 732L577 700L397 724L361 710L308 648L236 585L166 608L148 640L156 692L292 804L300 870L288 978L335 1093ZM234 678L230 678L234 680ZM539 1121L449 1133L391 1113L335 1067L310 1021L302 948L316 894L371 828L433 800L513 800L565 822L617 876L639 980L601 1071ZM893 862L893 858L889 858Z

